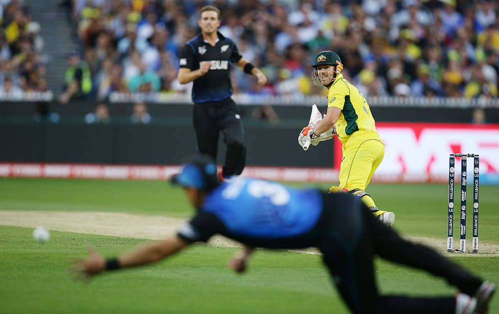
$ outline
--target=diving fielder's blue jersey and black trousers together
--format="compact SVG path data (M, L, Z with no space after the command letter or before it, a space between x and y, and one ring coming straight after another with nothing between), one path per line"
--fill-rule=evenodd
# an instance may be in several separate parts
M188 242L222 234L253 247L317 247L352 313L454 314L449 297L380 295L375 255L445 278L473 295L482 280L433 249L401 238L372 215L358 197L347 193L296 190L257 179L222 183L178 232Z

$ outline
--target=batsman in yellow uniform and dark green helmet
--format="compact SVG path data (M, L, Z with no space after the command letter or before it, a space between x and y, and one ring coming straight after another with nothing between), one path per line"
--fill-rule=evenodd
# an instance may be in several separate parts
M315 129L305 127L299 137L310 137L311 144L316 146L321 140L320 135L334 128L343 145L343 159L339 186L331 186L329 191L345 191L361 197L379 220L392 226L395 214L378 209L371 195L365 191L385 155L385 145L376 132L367 101L341 74L343 64L337 53L330 50L318 53L312 67L313 83L329 90L327 113Z

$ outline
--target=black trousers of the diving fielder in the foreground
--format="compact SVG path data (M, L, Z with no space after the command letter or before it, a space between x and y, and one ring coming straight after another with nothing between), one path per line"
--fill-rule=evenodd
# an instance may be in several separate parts
M334 284L352 313L455 313L454 296L379 295L374 255L442 277L468 295L473 295L482 284L480 278L433 249L401 238L380 222L360 198L346 196L324 195L324 208L330 209L330 217L321 228L319 248Z

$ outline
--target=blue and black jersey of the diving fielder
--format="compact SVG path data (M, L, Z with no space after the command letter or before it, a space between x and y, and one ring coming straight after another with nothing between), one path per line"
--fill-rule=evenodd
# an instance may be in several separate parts
M322 204L318 189L238 178L210 192L178 235L190 242L208 241L218 233L258 247L314 246Z

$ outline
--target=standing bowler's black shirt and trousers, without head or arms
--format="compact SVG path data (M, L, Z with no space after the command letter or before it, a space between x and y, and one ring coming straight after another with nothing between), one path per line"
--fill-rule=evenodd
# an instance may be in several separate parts
M246 163L246 144L241 116L232 100L231 65L242 56L230 38L221 33L215 46L204 41L203 35L189 40L180 58L180 67L200 68L200 63L210 61L208 73L194 80L193 124L198 140L198 150L217 159L220 132L224 135L227 153L222 174L224 177L243 172Z

